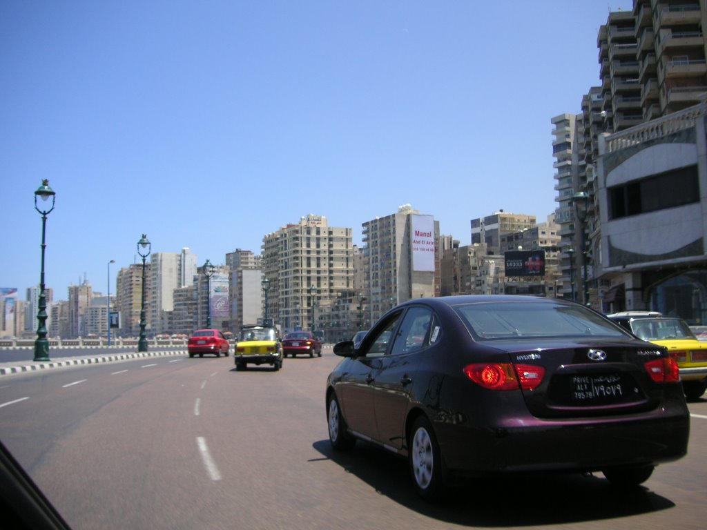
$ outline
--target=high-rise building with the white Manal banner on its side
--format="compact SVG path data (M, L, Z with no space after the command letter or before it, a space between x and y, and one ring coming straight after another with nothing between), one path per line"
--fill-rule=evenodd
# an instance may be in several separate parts
M439 239L439 221L409 204L363 223L370 322L405 300L439 295Z

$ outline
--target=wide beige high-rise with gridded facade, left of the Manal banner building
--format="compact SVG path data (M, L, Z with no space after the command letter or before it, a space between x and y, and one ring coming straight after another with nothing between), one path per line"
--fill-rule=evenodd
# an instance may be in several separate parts
M263 238L267 312L284 331L317 324L337 295L354 286L351 228L330 227L308 215ZM309 323L309 324L308 324Z

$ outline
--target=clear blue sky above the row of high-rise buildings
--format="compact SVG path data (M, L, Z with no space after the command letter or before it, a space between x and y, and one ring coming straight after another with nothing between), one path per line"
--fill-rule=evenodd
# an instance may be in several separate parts
M631 10L630 0L612 0ZM443 234L554 211L551 117L597 85L602 1L0 3L0 287L111 292L146 233L199 264L315 213ZM139 258L138 258L139 259Z

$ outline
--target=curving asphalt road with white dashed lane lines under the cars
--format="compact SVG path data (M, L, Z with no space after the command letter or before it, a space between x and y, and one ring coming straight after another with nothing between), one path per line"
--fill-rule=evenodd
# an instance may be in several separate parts
M707 400L689 456L620 493L597 476L474 480L421 502L402 459L329 448L338 358L233 370L165 356L0 377L0 437L75 529L703 529Z

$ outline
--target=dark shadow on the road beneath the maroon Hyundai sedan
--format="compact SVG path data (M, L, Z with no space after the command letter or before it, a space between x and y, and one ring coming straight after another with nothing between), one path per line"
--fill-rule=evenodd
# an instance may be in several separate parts
M636 488L619 490L597 475L541 475L457 478L436 504L421 500L411 484L407 459L373 444L356 442L350 452L335 452L329 440L314 447L380 495L409 510L466 526L541 526L629 517L674 507L665 497Z

